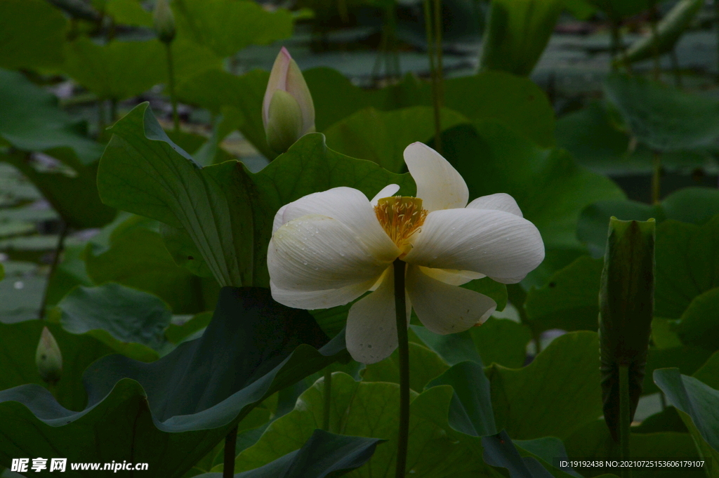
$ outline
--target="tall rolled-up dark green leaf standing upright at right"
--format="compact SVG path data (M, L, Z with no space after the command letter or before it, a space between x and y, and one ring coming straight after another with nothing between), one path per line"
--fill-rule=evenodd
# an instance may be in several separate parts
M654 313L654 219L610 219L599 293L604 420L619 441L620 367L628 367L629 421L644 380Z

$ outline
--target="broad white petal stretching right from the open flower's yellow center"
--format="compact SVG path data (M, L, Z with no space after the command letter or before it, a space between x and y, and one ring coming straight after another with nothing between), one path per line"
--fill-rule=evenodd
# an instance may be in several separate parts
M404 260L436 269L519 277L544 259L536 226L505 211L448 209L427 215Z

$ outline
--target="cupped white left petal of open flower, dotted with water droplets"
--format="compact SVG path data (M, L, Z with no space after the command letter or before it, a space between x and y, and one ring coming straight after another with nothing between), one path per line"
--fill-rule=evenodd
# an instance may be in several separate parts
M267 269L285 290L330 290L376 280L391 262L378 258L341 221L312 214L275 231Z

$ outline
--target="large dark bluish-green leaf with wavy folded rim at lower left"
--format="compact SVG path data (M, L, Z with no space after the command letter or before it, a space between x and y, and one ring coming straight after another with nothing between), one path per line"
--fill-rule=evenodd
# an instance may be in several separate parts
M257 403L346 354L342 339L318 351L326 336L308 313L269 290L226 288L202 339L150 364L112 355L89 367L82 412L37 385L0 392L0 463L48 454L102 462L110 450L115 461L181 477Z

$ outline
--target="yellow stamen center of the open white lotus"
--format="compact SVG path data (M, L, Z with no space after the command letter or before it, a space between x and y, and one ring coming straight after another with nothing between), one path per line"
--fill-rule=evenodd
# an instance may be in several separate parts
M427 210L422 208L422 200L408 196L382 198L377 201L375 214L387 235L402 251L400 257L409 254L412 250L411 238L419 231L427 217Z

